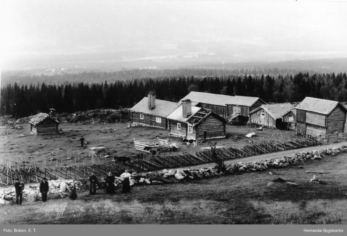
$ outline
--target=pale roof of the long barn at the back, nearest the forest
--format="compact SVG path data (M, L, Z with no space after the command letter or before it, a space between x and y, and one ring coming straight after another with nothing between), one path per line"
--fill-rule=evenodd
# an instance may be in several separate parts
M247 96L228 96L214 93L190 92L182 100L189 99L192 102L201 102L217 106L226 106L226 104L239 106L252 106L260 98Z

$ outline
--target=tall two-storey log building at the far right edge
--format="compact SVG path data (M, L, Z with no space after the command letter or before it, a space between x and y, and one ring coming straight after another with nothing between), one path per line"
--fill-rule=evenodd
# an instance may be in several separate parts
M306 97L296 107L296 132L303 135L343 133L347 108L337 101Z

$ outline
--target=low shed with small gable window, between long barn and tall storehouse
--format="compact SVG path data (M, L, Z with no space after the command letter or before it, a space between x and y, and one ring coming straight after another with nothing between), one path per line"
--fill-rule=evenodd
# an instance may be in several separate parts
M294 106L290 103L262 105L249 112L249 123L277 129L291 127L294 123Z

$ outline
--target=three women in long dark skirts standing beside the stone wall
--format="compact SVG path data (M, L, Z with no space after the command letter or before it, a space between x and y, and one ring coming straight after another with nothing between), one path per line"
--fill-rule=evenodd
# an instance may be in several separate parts
M124 182L123 182L123 187L122 187L122 193L130 193L130 177L131 174L128 173L128 170L125 170L125 172L123 174L120 175L120 177L124 178ZM96 176L94 175L94 173L92 173L92 175L89 177L89 193L91 195L94 195L96 193L96 186L98 184L98 179L96 178ZM112 175L112 172L110 171L109 174L106 177L106 192L108 194L114 194L115 193L115 176Z

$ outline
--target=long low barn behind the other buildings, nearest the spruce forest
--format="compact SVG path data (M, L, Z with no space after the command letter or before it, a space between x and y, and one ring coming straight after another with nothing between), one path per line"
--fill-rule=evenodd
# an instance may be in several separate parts
M195 102L197 107L210 109L222 117L231 116L244 122L248 121L248 113L262 104L266 104L257 97L228 96L213 93L190 92L183 100Z

